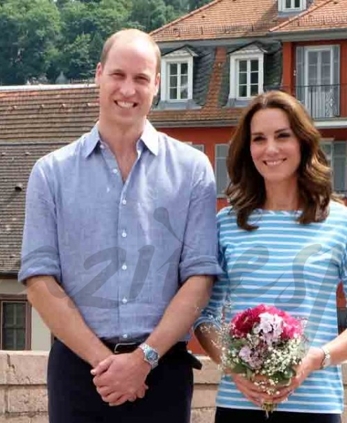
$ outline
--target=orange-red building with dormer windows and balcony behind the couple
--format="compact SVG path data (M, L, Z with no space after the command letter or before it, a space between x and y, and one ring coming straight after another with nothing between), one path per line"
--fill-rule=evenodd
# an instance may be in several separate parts
M282 89L310 111L347 192L347 1L214 0L153 31L162 51L162 83L151 121L204 150L226 205L227 143L252 96ZM339 325L346 300L337 292Z

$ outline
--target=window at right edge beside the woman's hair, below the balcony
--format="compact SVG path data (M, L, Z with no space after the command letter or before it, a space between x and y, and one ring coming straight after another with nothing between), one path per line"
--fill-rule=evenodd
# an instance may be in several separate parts
M321 148L332 168L332 187L337 193L347 191L347 141L323 141Z

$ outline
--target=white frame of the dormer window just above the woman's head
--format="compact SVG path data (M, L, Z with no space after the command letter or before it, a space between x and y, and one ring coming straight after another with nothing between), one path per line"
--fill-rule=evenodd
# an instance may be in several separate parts
M237 100L249 100L253 96L239 97L239 61L240 60L258 60L258 93L261 94L264 89L264 53L232 53L230 54L230 94L229 98ZM247 72L247 92L251 89L251 81Z

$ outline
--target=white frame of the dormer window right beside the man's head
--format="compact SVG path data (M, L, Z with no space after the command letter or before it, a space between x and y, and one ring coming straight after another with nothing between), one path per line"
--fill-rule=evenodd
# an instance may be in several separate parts
M160 83L160 100L169 101L172 103L192 100L193 98L193 62L194 54L188 51L179 51L171 53L162 57L161 64L161 83ZM170 84L170 64L186 63L188 65L188 96L187 98L169 98L169 84Z

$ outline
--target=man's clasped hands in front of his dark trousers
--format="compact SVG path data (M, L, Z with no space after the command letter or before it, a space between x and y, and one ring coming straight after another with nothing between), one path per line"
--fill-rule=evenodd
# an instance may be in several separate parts
M111 354L91 370L97 392L110 406L143 398L148 386L146 377L151 366L143 359L141 350L128 354Z

